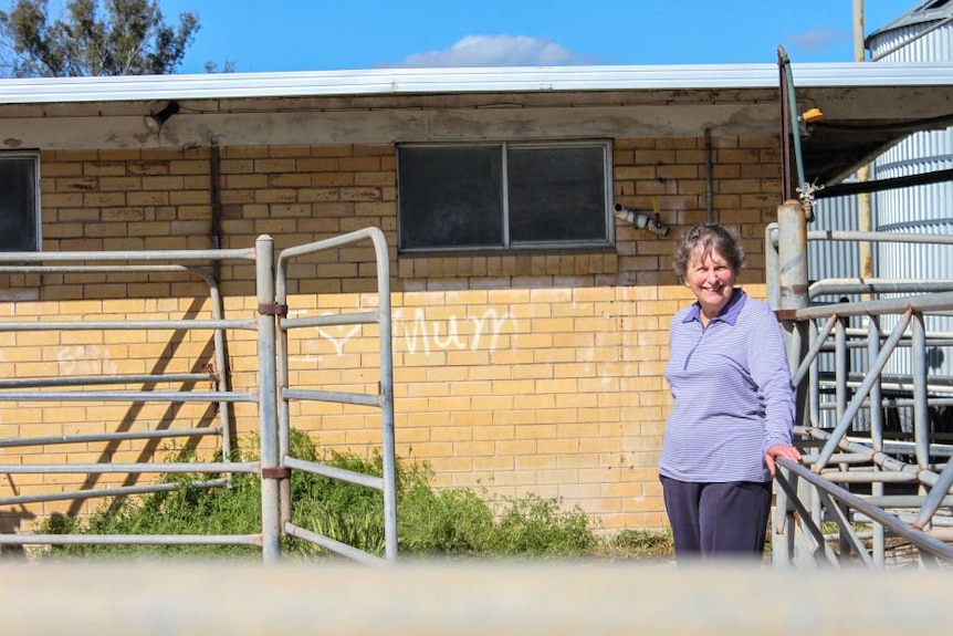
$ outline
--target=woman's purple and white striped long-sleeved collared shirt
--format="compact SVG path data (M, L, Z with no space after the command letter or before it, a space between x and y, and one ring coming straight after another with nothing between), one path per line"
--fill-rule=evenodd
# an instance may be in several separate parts
M794 392L774 312L735 289L702 327L699 304L669 332L666 379L674 404L659 472L680 481L771 481L765 450L790 444Z

